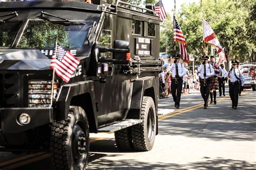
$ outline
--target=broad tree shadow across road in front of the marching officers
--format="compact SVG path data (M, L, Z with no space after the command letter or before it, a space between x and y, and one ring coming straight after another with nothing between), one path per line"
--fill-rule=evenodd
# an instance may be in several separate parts
M209 104L207 110L198 108L167 118L159 123L159 134L213 140L255 140L255 101L255 95L244 95L239 98L238 110L234 110L231 108L231 100L227 98L217 105ZM163 104L167 104L167 101Z

